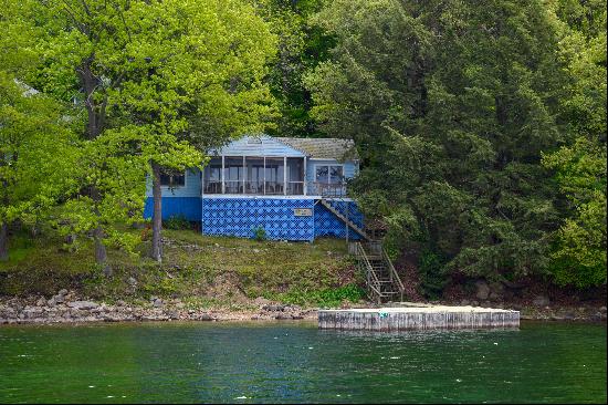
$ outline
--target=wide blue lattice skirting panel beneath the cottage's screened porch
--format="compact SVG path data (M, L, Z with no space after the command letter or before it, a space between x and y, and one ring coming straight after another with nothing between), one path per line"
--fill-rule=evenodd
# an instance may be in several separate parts
M252 238L262 227L269 239L314 240L314 216L296 217L294 208L313 210L314 200L202 198L202 232Z

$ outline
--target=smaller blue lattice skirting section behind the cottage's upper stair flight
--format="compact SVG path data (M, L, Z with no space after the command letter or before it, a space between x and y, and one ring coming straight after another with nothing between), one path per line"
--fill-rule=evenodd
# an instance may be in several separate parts
M355 201L327 201L342 215L350 219L359 228L364 229L364 217ZM347 209L348 212L346 212ZM346 237L346 225L321 204L315 206L315 237ZM358 240L360 239L360 236L353 229L348 228L348 238Z

